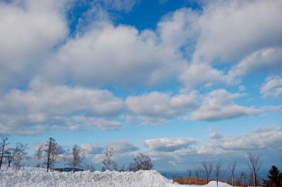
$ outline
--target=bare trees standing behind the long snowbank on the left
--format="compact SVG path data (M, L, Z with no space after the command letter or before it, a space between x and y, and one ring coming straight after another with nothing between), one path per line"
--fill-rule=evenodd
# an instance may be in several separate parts
M13 166L13 169L19 170L23 167L24 160L30 160L31 157L27 154L28 146L23 143L16 143L15 148L10 148L8 143L8 137L2 138L0 142L0 169L1 165L6 159L8 167ZM127 167L125 165L118 166L117 162L112 160L114 154L114 148L107 146L104 151L104 159L102 160L102 172L106 170L114 170L118 172L136 172L138 170L152 169L152 160L148 155L144 153L138 153L134 158L134 162L131 162ZM35 148L35 167L46 167L47 172L54 171L56 169L55 164L58 160L63 162L63 167L66 165L71 167L71 170L75 172L77 167L82 167L82 161L85 160L85 151L81 146L74 145L71 150L63 150L61 146L56 143L54 138L49 138L44 146L37 146ZM40 161L43 159L43 162ZM84 165L83 169L94 171L94 165ZM59 169L65 171L65 169Z

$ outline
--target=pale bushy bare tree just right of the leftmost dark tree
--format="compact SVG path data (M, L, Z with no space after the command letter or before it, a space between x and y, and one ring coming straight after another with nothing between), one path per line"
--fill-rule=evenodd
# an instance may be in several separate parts
M22 166L23 160L27 159L27 152L28 149L27 144L23 143L16 143L16 148L13 148L13 155L12 155L12 161L13 161L13 168L16 170L19 170Z

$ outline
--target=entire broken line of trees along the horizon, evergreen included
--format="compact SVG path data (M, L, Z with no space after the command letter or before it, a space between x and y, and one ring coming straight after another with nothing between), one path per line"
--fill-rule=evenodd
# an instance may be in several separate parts
M28 146L23 143L16 143L15 148L10 148L8 143L8 137L1 138L0 142L0 169L4 161L8 164L8 167L13 167L15 170L19 170L23 167L23 161L29 160L31 157L27 154ZM104 159L102 160L102 172L106 170L114 170L118 172L136 172L138 170L149 170L152 169L152 160L148 155L144 153L138 153L133 162L125 165L119 166L117 162L112 160L114 155L114 148L107 146L104 150ZM64 165L71 167L72 172L75 172L77 167L82 167L80 164L85 160L85 151L82 147L74 145L71 150L63 150L61 146L56 143L54 138L49 138L44 146L37 146L35 148L35 158L36 167L46 167L47 172L51 169L54 171L55 163L58 160L63 161ZM259 156L254 153L247 153L248 166L250 168L250 177L247 181L247 174L245 172L240 173L240 186L246 186L250 184L251 186L259 186L258 172L260 169ZM43 159L43 162L40 161ZM201 162L201 167L195 167L194 169L188 169L188 176L191 179L192 174L195 174L196 183L199 185L199 180L204 179L205 183L209 183L212 174L216 180L216 185L219 186L219 181L221 180L221 174L223 169L223 162L217 160L216 162ZM238 185L235 181L235 169L237 167L237 161L227 163L227 169L230 172L231 184L232 186ZM85 165L85 170L94 171L94 165ZM63 170L61 170L63 171ZM173 174L173 182L178 177L178 174ZM186 179L185 179L186 180ZM186 181L184 182L186 184ZM191 184L191 183L188 183ZM276 166L272 166L269 170L269 175L266 179L263 179L262 186L268 187L282 187L282 174Z

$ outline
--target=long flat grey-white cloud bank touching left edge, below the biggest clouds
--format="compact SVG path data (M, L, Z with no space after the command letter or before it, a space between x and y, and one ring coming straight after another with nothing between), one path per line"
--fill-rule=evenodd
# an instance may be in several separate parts
M28 91L15 89L2 97L0 124L7 127L1 128L1 133L41 133L58 128L56 122L69 124L69 129L78 129L75 124L117 128L121 127L119 122L103 118L117 117L122 110L123 101L106 90L34 84Z

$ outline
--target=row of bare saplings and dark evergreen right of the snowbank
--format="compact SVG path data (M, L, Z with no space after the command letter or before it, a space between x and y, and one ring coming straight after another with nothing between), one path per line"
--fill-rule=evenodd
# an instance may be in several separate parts
M259 155L255 155L254 153L247 153L247 165L250 168L250 176L247 177L245 172L241 172L240 176L236 179L235 177L235 169L237 167L237 161L233 160L233 162L227 163L227 170L230 174L231 185L232 186L259 186L259 176L258 172L261 167L259 162ZM188 180L187 178L180 181L180 183L184 184L192 184L190 180L191 176L194 174L195 176L195 184L200 184L200 179L204 179L204 183L209 183L212 174L214 174L214 179L216 181L216 186L219 186L219 181L222 179L223 170L223 162L221 159L216 162L201 162L201 167L195 167L194 169L187 169ZM172 175L173 182L178 181L178 174ZM248 178L248 180L247 180ZM278 170L276 166L272 166L269 170L269 175L266 176L267 179L262 180L262 186L267 187L282 187L282 174ZM202 183L201 183L202 184Z

